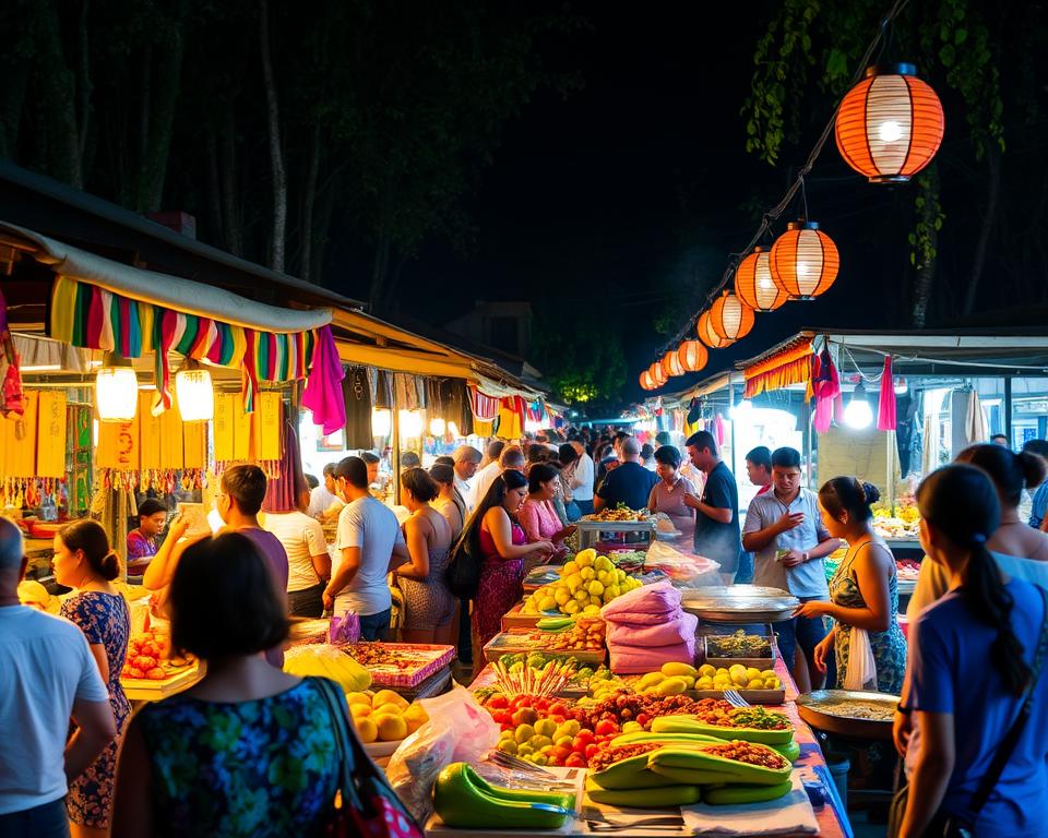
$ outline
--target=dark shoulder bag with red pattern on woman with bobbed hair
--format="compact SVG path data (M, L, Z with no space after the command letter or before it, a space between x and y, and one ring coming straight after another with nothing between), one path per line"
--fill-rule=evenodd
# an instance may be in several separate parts
M338 797L325 838L424 838L415 818L401 803L357 737L349 730L346 698L326 678L313 679L323 694L335 732L341 774Z

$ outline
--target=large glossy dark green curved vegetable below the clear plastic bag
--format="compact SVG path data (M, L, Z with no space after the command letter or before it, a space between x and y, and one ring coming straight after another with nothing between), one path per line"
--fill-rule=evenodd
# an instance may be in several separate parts
M471 776L472 775L472 776ZM509 789L496 789L498 797L474 783L477 775L465 763L452 763L437 777L433 809L446 826L455 829L559 829L573 809L548 802L503 797ZM487 783L486 783L487 785Z

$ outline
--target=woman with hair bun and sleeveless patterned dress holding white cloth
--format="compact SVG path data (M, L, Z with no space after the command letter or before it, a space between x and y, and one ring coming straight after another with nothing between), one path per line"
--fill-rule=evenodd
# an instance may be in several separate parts
M837 683L843 683L851 655L851 628L861 628L869 634L877 665L877 683L862 689L897 695L906 673L906 638L895 618L895 558L871 526L870 506L880 496L876 486L854 477L835 477L819 490L822 522L833 538L847 541L848 551L830 580L830 601L805 602L797 613L829 614L834 620L833 631L815 647L820 672L826 671L826 656L834 649Z

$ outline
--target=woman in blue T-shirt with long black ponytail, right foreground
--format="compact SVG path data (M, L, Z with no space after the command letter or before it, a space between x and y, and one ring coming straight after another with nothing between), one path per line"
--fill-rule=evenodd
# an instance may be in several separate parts
M1002 574L987 550L1001 512L986 472L968 465L940 468L920 484L917 506L925 561L946 570L950 590L910 630L909 687L896 713L895 743L905 750L912 719L920 741L898 834L942 835L942 823L952 818L974 835L1041 836L1048 679L1031 679L1044 651L1048 600L1034 585ZM979 809L973 799L1027 686L1026 729Z

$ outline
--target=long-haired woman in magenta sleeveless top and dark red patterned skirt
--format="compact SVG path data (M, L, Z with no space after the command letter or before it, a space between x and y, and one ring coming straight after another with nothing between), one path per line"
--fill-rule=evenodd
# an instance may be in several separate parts
M545 558L556 550L546 539L528 542L514 522L526 498L527 478L507 469L495 478L462 530L461 538L469 539L471 554L483 556L473 609L473 630L479 646L501 631L502 614L520 601L524 559L535 553Z

